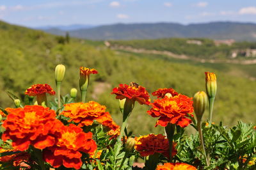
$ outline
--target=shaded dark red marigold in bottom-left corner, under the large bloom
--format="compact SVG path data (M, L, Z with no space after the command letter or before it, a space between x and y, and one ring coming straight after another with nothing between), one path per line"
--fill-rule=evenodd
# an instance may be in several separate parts
M5 150L0 148L0 153L10 152L10 151L18 151L18 150ZM13 155L6 155L4 157L0 157L0 162L10 162L13 166L25 166L29 167L26 162L29 161L30 155L26 152L15 153ZM23 165L22 165L23 163Z

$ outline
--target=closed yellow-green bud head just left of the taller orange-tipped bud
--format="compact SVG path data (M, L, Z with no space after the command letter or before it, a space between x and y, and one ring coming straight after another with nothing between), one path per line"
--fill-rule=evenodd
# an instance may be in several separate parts
M193 98L193 107L198 121L201 120L207 104L207 95L204 91L198 91Z

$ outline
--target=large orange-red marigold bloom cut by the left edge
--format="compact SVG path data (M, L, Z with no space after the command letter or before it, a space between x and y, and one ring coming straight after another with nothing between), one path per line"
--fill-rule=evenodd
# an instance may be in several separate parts
M12 139L13 148L24 151L33 145L40 150L54 145L61 121L48 107L26 105L24 108L6 108L8 116L3 123L6 129L2 139Z

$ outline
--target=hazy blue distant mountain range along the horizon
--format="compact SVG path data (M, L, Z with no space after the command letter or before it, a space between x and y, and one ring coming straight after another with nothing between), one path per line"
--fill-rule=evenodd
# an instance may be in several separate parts
M132 40L132 39L156 39L156 38L212 38L234 39L237 41L256 41L256 24L243 22L209 22L203 24L112 24L106 26L52 27L42 29L55 35L65 35L86 38L90 40ZM74 29L73 29L74 28Z

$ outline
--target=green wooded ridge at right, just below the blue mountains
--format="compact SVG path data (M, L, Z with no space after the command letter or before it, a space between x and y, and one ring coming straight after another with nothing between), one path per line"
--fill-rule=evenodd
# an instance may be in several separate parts
M238 58L244 58L246 49L256 49L255 42L236 42L232 45L216 45L214 40L205 38L163 38L157 40L110 41L111 46L132 47L134 49L170 51L200 59L227 59L237 51Z

